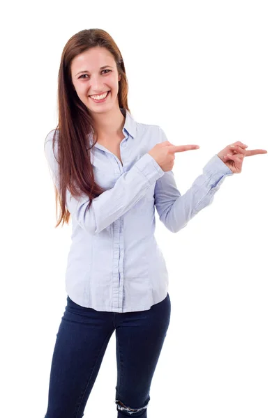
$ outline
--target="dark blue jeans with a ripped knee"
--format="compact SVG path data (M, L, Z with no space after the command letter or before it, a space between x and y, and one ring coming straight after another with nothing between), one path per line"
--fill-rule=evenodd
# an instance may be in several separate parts
M67 297L56 334L45 418L82 418L100 365L116 332L117 417L147 418L151 380L169 327L171 304L148 311L114 312L84 308Z

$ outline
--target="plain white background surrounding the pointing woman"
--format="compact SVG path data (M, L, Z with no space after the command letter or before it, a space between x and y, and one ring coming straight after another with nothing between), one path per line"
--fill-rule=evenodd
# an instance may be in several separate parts
M149 418L278 418L277 1L19 1L1 7L1 415L43 418L66 306L71 226L56 222L43 152L61 52L105 29L123 54L136 121L160 125L185 193L234 141L247 157L179 233L156 213L172 316ZM115 418L115 334L84 418ZM62 418L62 417L61 417ZM65 417L63 417L65 418ZM70 417L67 417L70 418Z

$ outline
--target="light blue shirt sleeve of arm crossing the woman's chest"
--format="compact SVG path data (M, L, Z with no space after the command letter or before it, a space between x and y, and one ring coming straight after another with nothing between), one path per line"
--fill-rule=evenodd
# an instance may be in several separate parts
M52 132L45 139L44 150L52 180L59 189L59 166L55 157L57 147L53 152ZM105 190L100 196L93 199L88 210L86 207L89 204L89 197L82 195L79 199L75 199L68 189L66 191L66 207L72 218L75 218L84 231L96 235L140 201L151 185L163 174L164 171L156 160L146 153L129 171L123 173L116 180L112 189Z

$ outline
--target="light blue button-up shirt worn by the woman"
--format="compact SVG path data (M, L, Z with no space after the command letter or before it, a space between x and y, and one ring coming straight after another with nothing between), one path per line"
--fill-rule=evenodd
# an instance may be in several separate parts
M123 166L97 143L91 148L91 164L105 192L93 199L86 214L88 196L75 199L68 191L66 195L73 227L66 292L75 303L97 311L144 311L165 299L169 280L154 237L155 207L167 229L178 232L213 201L225 176L233 174L214 155L181 196L173 171L163 171L148 154L153 146L167 141L165 132L158 125L136 122L125 109L121 112L126 116L120 144ZM59 187L53 137L54 130L45 139L45 156Z

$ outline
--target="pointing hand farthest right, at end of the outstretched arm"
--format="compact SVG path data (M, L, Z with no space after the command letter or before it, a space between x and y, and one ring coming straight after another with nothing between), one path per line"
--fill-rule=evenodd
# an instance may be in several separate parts
M246 150L247 147L248 145L241 141L236 141L234 144L226 146L217 155L233 173L241 173L244 157L267 153L266 150Z

